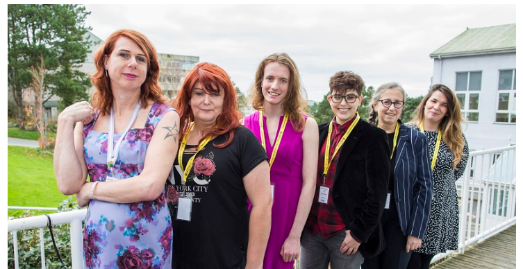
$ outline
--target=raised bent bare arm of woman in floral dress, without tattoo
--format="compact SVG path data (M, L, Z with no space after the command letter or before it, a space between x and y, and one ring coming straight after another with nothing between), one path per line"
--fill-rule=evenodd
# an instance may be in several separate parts
M58 190L66 196L76 193L87 178L87 165L83 157L83 124L91 121L94 109L87 102L66 107L58 115L53 167ZM74 123L76 127L74 127Z

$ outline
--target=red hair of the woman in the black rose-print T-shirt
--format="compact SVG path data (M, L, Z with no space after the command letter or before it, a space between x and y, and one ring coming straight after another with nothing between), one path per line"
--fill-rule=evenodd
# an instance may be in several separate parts
M180 92L171 103L172 107L176 107L176 110L178 110L180 114L180 124L182 125L179 134L180 139L185 132L189 130L190 123L194 121L190 98L192 88L198 81L207 94L220 94L219 91L223 91L223 111L216 118L216 127L204 130L204 138L228 134L223 144L214 144L216 148L224 148L233 141L234 130L240 125L241 113L236 110L236 90L234 89L231 78L229 78L229 75L224 69L208 62L201 62L189 71L183 81L183 85L181 85ZM217 89L214 89L213 86ZM199 142L201 142L201 140Z

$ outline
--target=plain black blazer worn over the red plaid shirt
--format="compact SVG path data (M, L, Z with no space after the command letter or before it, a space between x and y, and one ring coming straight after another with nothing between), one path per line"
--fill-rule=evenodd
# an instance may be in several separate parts
M322 145L329 134L329 123L318 127ZM360 119L340 148L332 194L345 229L362 241L358 250L363 258L374 257L385 249L380 219L389 170L387 134Z

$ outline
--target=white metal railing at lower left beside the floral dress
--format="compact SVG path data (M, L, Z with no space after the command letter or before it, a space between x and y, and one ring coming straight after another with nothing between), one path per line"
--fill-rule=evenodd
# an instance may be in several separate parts
M60 225L69 223L71 234L71 266L72 268L83 268L83 227L82 222L87 214L87 209L80 209L74 211L66 211L60 213L49 214L51 218L51 225ZM44 254L44 227L47 227L49 220L47 216L32 216L28 218L16 218L8 220L7 232L13 234L13 257L15 260L15 269L19 268L18 261L18 238L17 232L25 229L40 229L40 254L42 257L42 269L45 269L45 254Z

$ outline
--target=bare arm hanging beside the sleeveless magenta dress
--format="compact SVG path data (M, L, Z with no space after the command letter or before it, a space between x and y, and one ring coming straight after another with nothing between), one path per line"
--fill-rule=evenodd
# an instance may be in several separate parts
M286 262L294 261L299 257L301 232L304 230L310 207L313 205L318 166L318 135L318 125L313 118L309 117L305 124L304 134L301 137L304 144L304 161L301 171L303 175L303 185L299 195L294 223L280 251L283 261Z

